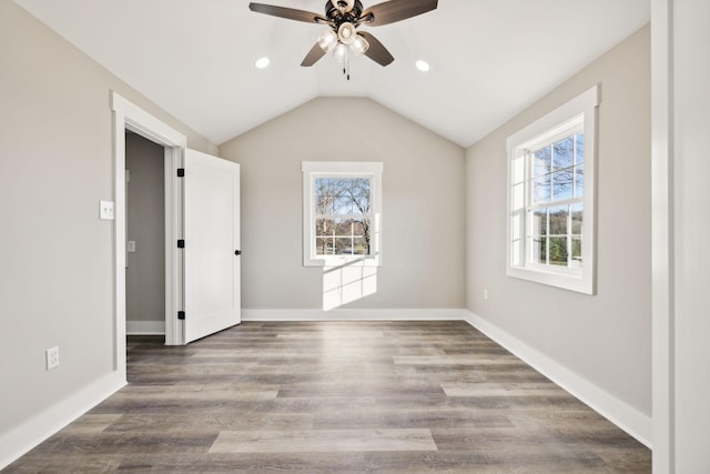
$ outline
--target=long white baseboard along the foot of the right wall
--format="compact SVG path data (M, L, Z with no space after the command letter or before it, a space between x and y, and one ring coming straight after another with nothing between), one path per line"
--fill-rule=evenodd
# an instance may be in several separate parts
M647 447L652 447L653 424L650 416L590 383L483 317L467 311L466 321Z

